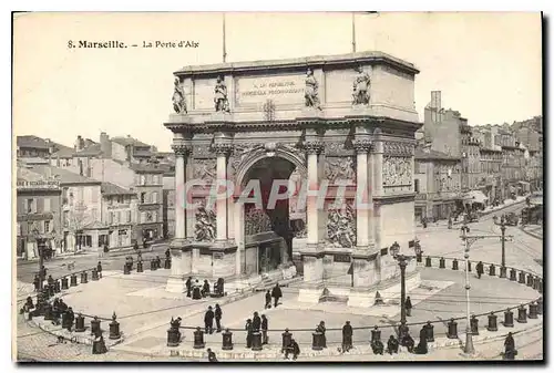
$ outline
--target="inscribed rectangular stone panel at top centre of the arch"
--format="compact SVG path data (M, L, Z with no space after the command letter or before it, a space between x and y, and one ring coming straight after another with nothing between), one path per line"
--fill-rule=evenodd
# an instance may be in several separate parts
M275 105L301 104L304 89L304 74L238 77L235 103L236 106L261 106L271 100Z

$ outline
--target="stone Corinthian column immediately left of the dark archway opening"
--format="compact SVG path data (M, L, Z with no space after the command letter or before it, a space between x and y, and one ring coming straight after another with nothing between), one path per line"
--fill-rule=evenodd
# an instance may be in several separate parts
M228 143L216 143L212 146L217 155L217 190L216 190L216 240L226 242L228 240L228 216L227 197L224 189L227 188L227 160L233 148Z

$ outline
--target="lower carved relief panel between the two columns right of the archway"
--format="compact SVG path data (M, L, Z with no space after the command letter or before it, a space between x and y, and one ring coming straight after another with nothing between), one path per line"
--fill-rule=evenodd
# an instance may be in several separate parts
M356 213L350 204L341 209L330 209L327 215L327 239L335 247L356 246Z

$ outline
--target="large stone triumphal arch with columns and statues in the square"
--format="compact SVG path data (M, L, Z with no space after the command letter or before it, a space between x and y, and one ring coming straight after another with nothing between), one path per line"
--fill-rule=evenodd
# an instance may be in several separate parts
M300 301L398 293L389 248L414 239L418 73L380 52L176 71L166 290L183 292L188 276L279 279L295 259ZM416 263L408 273L414 286Z

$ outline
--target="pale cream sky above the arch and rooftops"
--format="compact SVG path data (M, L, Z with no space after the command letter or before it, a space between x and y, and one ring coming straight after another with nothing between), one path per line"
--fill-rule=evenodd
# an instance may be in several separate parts
M173 72L220 63L222 13L27 13L13 24L13 134L73 146L100 132L170 151ZM351 13L227 13L227 62L352 51ZM540 13L357 13L357 51L421 71L420 121L431 91L470 125L542 113ZM195 49L70 49L69 41L192 40Z

